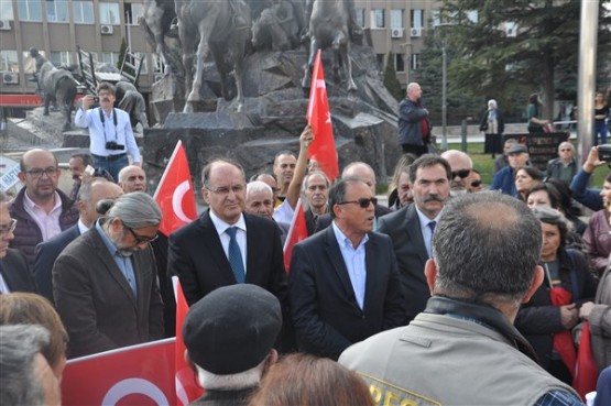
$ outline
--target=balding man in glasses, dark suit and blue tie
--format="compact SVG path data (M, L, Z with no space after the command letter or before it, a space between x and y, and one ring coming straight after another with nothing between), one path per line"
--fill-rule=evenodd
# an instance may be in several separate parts
M204 168L201 184L209 209L170 235L167 268L181 279L187 303L221 286L250 283L274 294L286 309L280 230L271 220L243 212L242 167L214 161Z

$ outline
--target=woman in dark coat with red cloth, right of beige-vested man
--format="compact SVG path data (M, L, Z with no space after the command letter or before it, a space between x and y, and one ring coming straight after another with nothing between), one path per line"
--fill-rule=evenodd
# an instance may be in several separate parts
M579 321L579 306L592 300L597 283L580 251L566 249L567 222L548 207L535 207L543 234L543 284L522 306L515 327L535 349L539 364L560 381L571 384L576 349L570 330Z

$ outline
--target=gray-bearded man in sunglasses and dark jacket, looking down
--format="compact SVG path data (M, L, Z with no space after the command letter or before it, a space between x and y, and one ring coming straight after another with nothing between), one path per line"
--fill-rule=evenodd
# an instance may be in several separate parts
M163 337L163 303L149 244L161 217L149 195L123 195L55 261L53 294L70 356Z

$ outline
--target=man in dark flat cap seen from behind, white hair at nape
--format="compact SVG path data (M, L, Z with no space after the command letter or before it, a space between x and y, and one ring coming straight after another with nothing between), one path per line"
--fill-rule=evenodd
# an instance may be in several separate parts
M195 303L183 325L185 358L206 393L190 405L247 405L282 328L279 299L252 284L220 287Z

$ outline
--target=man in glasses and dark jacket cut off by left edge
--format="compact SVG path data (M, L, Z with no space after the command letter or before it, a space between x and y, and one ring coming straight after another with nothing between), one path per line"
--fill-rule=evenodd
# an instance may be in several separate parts
M34 278L28 270L25 256L10 249L14 239L17 220L9 213L9 197L0 190L0 294L10 292L36 292Z

